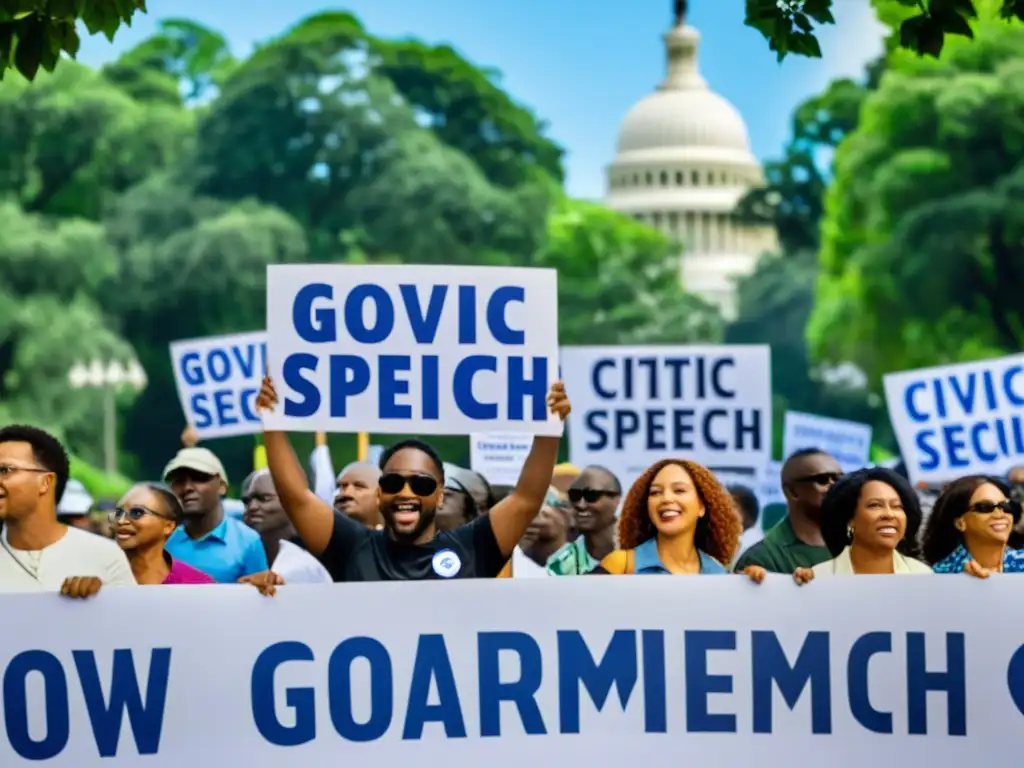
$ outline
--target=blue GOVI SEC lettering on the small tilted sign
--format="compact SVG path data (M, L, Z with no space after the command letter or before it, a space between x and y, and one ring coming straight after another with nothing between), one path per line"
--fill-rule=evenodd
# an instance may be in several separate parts
M181 355L178 369L197 429L259 424L256 395L266 370L266 344L233 344Z

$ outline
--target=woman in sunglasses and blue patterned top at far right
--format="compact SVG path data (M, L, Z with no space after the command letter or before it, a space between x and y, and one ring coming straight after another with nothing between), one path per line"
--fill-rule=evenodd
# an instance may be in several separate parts
M1024 552L1011 549L1010 535L1021 505L995 477L968 475L949 483L925 526L924 555L936 573L1024 573Z

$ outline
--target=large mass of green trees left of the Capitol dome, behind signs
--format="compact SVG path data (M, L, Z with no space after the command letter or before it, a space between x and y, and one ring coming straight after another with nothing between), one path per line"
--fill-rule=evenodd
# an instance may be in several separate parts
M148 386L120 400L135 476L183 426L169 342L264 328L268 263L551 266L566 342L721 338L677 245L565 198L562 148L496 73L349 13L244 60L165 20L100 71L5 82L0 145L0 410L94 461L99 395L68 370L137 357ZM248 471L251 439L217 451Z

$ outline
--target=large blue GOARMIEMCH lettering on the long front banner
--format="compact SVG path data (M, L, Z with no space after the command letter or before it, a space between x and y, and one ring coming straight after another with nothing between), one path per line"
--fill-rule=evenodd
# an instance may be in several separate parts
M618 708L628 711L631 701L643 710L645 733L668 733L670 727L689 733L737 733L735 711L723 711L727 705L712 710L713 694L732 694L731 675L712 674L712 654L737 652L737 633L727 630L690 630L683 633L683 681L666 678L666 633L662 630L620 629L612 633L603 651L595 652L585 637L574 630L562 630L556 635L557 652L549 667L557 680L557 725L545 722L538 694L544 683L545 659L541 644L524 632L481 632L477 635L477 668L475 696L480 737L498 737L509 728L528 735L544 735L551 731L579 734L585 707L603 712L614 692ZM902 685L907 700L907 733L929 733L929 707L936 700L945 701L945 725L941 733L967 735L967 662L965 637L962 633L944 636L946 651L942 669L929 664L925 652L924 633L905 636L905 670ZM751 730L772 733L775 728L775 696L777 690L791 711L801 699L809 701L807 729L814 734L833 732L837 708L847 707L861 727L873 733L893 733L893 715L877 710L871 703L868 665L872 659L893 652L894 635L872 632L858 638L845 659L846 695L833 690L830 669L836 649L826 632L809 632L794 654L787 654L774 632L755 631L751 634ZM514 656L512 669L518 674L502 675L499 659ZM353 689L350 670L356 662L369 665L370 690ZM252 711L257 731L270 743L295 746L316 738L315 688L286 687L288 713L278 711L276 680L292 664L315 664L313 651L299 642L283 642L270 646L257 658L252 673ZM934 659L933 659L934 662ZM508 669L508 668L507 668ZM1024 649L1018 651L1009 668L1012 695L1018 707L1024 708ZM899 679L898 677L896 678ZM467 680L462 681L468 683ZM887 678L891 686L894 679ZM419 740L428 725L442 730L447 738L468 735L466 697L460 694L444 638L441 635L421 635L417 644L412 676L408 689L399 688L395 668L387 647L369 637L343 641L331 653L326 674L326 700L335 732L348 741L374 741L392 732L396 696L406 701L401 738ZM684 686L685 716L682 723L670 723L668 691ZM641 689L638 692L638 688ZM436 691L431 700L431 691ZM356 720L354 698L358 695L370 702L370 714ZM588 699L585 705L584 699ZM845 699L845 701L844 701ZM502 705L511 703L513 707ZM361 708L360 708L361 709ZM1024 710L1022 710L1024 711ZM555 713L553 713L555 714ZM515 720L514 726L511 720ZM286 724L287 723L287 724ZM593 727L593 726L592 726Z

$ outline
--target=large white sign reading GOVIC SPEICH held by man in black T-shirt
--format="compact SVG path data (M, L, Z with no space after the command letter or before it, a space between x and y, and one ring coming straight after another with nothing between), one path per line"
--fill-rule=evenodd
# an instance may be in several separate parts
M559 435L553 269L267 267L267 429Z

